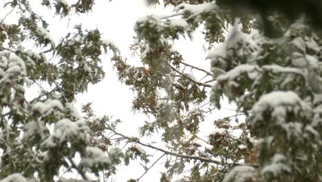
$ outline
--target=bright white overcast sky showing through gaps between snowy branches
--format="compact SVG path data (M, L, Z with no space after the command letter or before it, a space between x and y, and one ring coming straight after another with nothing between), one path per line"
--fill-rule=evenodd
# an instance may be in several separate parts
M66 1L69 3L71 2L71 0ZM40 1L30 2L39 3ZM136 20L148 14L170 14L173 11L173 7L168 7L166 9L162 6L148 7L144 3L144 0L114 0L111 2L107 0L96 0L96 5L92 12L82 14L80 17L73 16L70 17L70 19L60 19L59 17L53 18L53 13L45 8L41 8L41 6L36 8L35 11L43 15L43 17L50 22L49 30L56 42L58 42L66 32L72 30L73 25L82 23L84 29L87 28L92 30L98 28L98 30L103 33L103 39L114 41L114 43L118 45L122 57L126 57L130 65L140 65L138 57L131 57L131 52L129 50L129 45L133 43L132 37L135 36L133 26L136 23ZM0 12L0 17L3 17L4 13L5 12ZM10 19L6 19L6 22L9 23ZM209 70L210 62L205 60L206 52L202 49L203 43L203 35L201 32L197 32L194 35L193 41L190 41L189 39L175 41L175 48L183 54L184 59L188 63ZM32 47L30 47L30 49L32 49ZM129 86L118 81L116 70L112 69L112 63L110 61L112 52L109 53L110 54L107 56L103 56L103 67L106 72L105 79L101 83L91 85L87 93L78 94L76 98L78 101L78 110L80 110L83 103L93 102L92 109L98 116L107 114L109 116L114 116L114 119L121 119L124 123L120 125L119 131L127 135L137 136L138 130L136 128L142 125L144 121L149 121L149 119L142 116L142 114L134 114L131 112L133 93ZM38 91L36 89L30 90L27 95L31 96L35 94L35 92ZM213 112L213 115L208 117L206 124L201 125L200 130L205 131L201 136L207 136L211 132L211 130L207 128L207 124L212 124L214 119L233 114L229 110ZM151 141L153 140L157 139L151 139ZM157 159L160 155L160 152L156 152L154 158ZM151 161L151 163L153 163L153 161ZM133 164L134 165L131 165L130 168L118 168L119 172L115 181L127 181L127 179L130 178L136 179L140 177L144 173L143 168L137 163ZM161 162L159 165L155 166L141 179L141 181L158 181L158 179L160 179L160 172L164 172L164 168L160 170L162 165L163 163Z

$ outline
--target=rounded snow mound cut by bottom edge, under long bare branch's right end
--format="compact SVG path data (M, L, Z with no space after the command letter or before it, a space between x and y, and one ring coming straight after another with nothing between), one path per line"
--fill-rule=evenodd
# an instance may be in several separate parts
M237 166L231 170L222 182L261 181L259 172L248 165Z

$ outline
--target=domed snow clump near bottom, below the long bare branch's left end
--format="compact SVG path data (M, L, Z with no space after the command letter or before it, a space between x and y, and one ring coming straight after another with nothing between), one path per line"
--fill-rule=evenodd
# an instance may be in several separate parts
M81 159L80 165L85 165L87 167L95 167L96 165L105 164L109 165L111 159L109 156L100 150L100 148L89 147L86 149L87 155Z

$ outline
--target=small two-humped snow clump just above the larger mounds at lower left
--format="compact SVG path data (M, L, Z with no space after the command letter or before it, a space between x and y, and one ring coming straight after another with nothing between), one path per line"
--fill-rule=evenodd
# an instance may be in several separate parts
M32 110L39 112L42 117L52 114L55 109L63 110L64 107L58 100L47 99L45 102L36 102L32 104Z

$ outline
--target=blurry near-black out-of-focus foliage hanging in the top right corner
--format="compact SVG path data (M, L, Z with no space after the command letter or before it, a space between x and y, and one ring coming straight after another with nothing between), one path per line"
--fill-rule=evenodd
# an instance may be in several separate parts
M268 14L279 12L293 23L305 15L309 25L314 30L322 30L322 1L321 0L217 0L221 8L231 10L233 17L240 17L243 13L259 14L264 25L264 34L268 37L277 37L268 21Z

